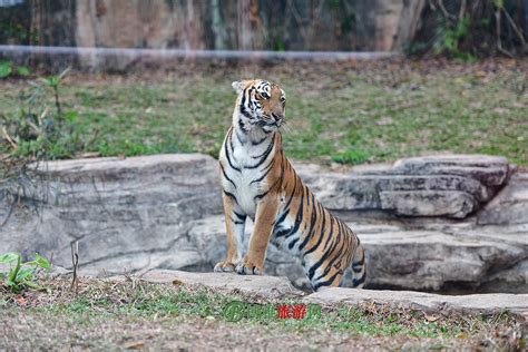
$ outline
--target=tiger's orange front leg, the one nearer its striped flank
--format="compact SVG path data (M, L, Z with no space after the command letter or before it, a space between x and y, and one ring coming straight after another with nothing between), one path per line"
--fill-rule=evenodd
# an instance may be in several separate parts
M273 195L261 201L256 207L255 227L250 237L250 247L242 263L236 265L236 272L243 275L264 274L264 260L273 225L278 211L278 202Z

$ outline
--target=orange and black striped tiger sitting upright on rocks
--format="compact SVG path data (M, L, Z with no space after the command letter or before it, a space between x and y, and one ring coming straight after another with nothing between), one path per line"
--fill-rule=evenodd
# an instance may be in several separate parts
M300 257L313 291L344 286L343 282L363 287L360 239L321 205L284 155L284 90L263 79L232 86L237 98L218 157L227 253L214 271L263 275L273 243ZM247 217L254 228L244 254Z

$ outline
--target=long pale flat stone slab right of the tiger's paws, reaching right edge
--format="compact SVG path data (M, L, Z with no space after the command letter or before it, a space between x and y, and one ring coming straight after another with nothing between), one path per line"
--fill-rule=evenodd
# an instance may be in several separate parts
M495 314L511 312L528 316L528 294L469 294L439 295L413 291L377 291L332 287L312 293L303 299L316 304L361 304L374 302L426 312L461 312L471 314Z

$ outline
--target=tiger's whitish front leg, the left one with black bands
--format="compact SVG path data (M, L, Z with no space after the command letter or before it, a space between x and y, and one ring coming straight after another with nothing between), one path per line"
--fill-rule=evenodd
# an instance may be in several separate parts
M242 260L246 215L235 209L235 201L225 193L222 201L224 203L225 231L227 234L227 257L225 261L217 263L214 271L233 272L235 265Z

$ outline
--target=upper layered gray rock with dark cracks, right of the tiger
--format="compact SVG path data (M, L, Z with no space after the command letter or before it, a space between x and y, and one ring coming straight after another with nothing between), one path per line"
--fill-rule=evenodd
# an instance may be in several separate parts
M349 173L296 168L331 209L453 218L482 207L512 170L505 158L470 155L401 159L393 166L363 166Z

